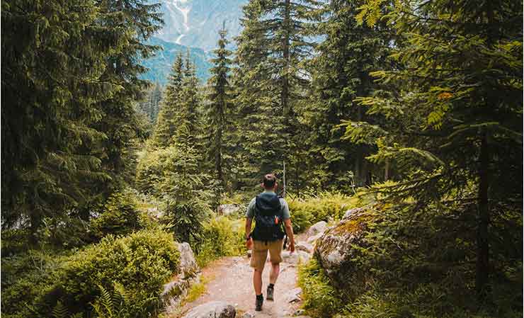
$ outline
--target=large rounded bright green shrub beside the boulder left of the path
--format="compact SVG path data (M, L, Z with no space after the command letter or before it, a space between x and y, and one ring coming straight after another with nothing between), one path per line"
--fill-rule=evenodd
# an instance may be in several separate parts
M159 230L119 239L108 235L67 260L57 295L70 312L89 312L100 286L114 290L120 284L129 297L125 317L148 317L159 309L161 287L178 269L178 253L171 235Z

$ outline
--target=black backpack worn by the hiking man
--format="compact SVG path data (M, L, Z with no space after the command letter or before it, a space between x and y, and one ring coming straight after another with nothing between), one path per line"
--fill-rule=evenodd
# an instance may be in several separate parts
M283 239L283 213L280 198L275 193L264 192L255 198L255 229L253 239L263 242Z

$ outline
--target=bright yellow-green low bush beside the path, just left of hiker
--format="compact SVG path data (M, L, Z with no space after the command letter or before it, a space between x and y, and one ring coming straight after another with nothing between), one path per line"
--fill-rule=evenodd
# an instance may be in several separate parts
M244 220L230 220L224 216L214 217L205 223L202 237L196 256L200 267L222 256L246 254Z

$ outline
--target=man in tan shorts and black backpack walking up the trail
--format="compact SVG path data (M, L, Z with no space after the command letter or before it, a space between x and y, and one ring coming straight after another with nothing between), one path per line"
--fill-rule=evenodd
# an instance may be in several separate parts
M255 310L261 311L264 301L262 295L262 272L268 257L271 262L269 285L266 300L273 300L273 290L280 272L282 261L283 238L287 234L292 253L295 251L295 238L291 227L290 209L283 198L275 193L278 186L273 174L263 177L263 193L253 198L246 212L246 246L252 249L251 267L254 268L253 286L255 288ZM255 228L251 233L251 222L255 219ZM284 233L285 230L285 233Z

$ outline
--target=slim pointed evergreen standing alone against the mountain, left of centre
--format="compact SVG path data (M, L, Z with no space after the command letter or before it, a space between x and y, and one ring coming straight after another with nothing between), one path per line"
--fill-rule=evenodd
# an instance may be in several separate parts
M230 65L232 55L226 49L228 44L227 30L225 25L219 31L217 49L213 50L215 58L211 59L214 67L210 69L212 76L207 81L210 93L207 95L207 134L210 135L210 147L208 155L210 161L214 163L217 179L224 185L224 156L227 157L227 139L230 130L233 129L230 121L232 116L232 88L230 81Z

